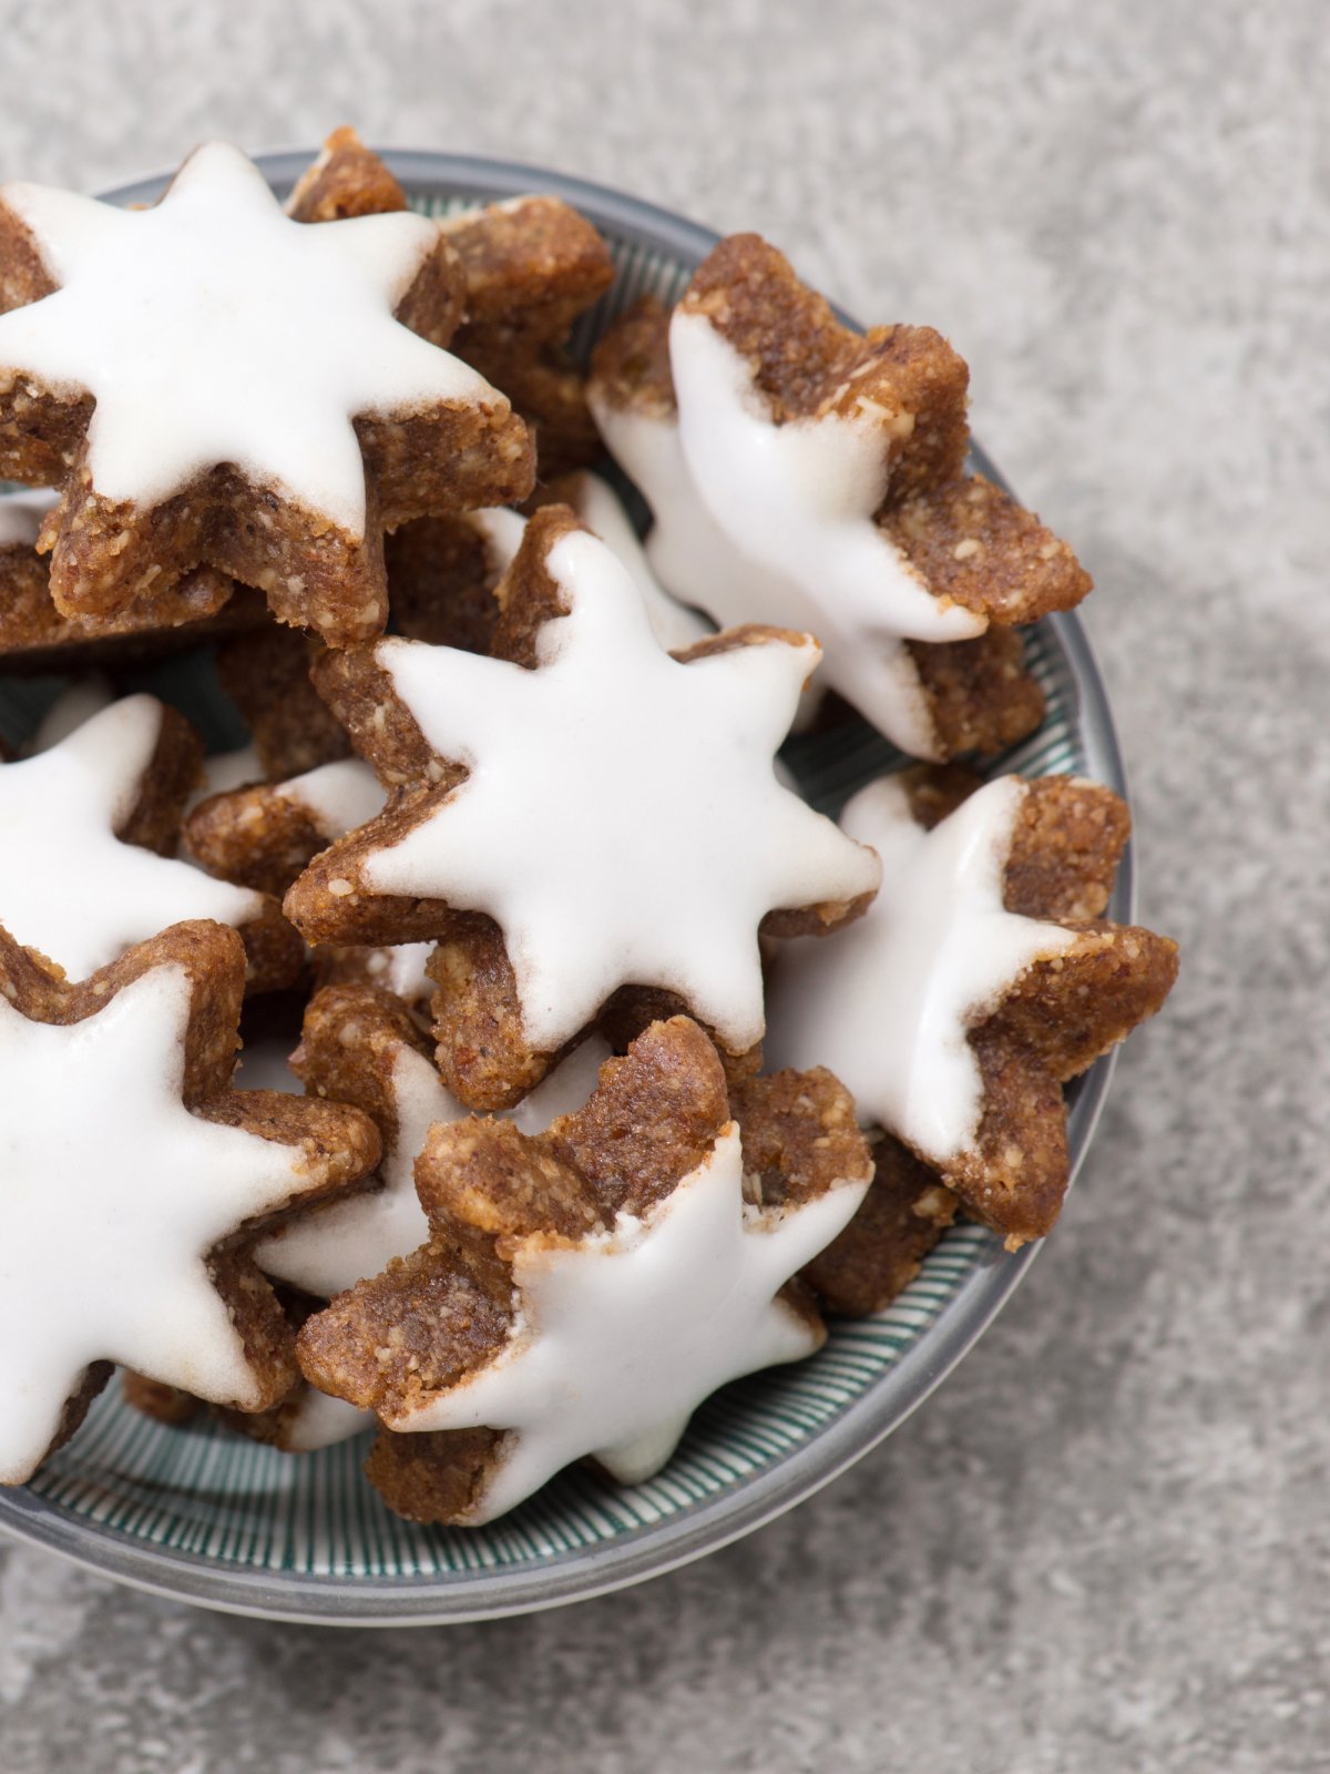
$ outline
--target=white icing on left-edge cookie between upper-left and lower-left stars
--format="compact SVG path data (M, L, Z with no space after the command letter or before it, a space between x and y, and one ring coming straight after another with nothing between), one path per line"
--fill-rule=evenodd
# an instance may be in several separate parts
M128 695L51 750L0 765L0 924L71 979L181 919L262 912L259 894L115 837L160 729L161 703Z

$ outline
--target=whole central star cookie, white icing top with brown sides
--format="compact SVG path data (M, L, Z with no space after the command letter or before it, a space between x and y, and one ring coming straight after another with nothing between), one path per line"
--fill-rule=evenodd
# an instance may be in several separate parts
M559 506L498 600L495 658L394 639L319 662L390 800L310 862L287 915L314 944L443 938L438 1057L470 1107L520 1100L626 985L745 1052L757 928L833 930L878 883L771 772L816 644L750 626L661 651L628 571Z

